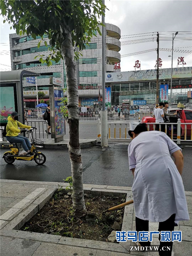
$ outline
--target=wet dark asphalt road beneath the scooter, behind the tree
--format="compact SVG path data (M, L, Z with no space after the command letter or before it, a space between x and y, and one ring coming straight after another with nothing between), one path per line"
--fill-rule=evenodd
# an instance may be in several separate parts
M0 177L12 180L34 180L63 182L71 176L70 160L67 150L45 150L46 163L36 165L34 161L15 161L9 165L4 162L1 149ZM186 191L192 191L192 148L184 147L183 184ZM128 170L126 144L109 144L107 149L94 146L82 149L83 182L111 186L132 186L132 172Z

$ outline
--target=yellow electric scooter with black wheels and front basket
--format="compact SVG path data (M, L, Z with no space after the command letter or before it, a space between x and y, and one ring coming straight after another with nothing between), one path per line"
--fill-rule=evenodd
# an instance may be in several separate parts
M14 147L14 144L3 144L2 145L3 148L10 148L10 150L11 150L11 151L6 151L3 154L3 158L4 158L5 162L7 164L13 164L15 162L15 160L21 160L21 161L34 160L36 162L36 164L39 164L39 165L44 164L46 161L46 156L36 149L36 147L43 148L42 145L44 142L42 140L33 138L33 132L34 132L35 128L30 128L29 130L24 129L24 130L26 131L27 134L29 134L29 137L32 142L31 152L34 153L34 155L33 156L20 156L19 148L18 148L17 144L15 144L16 147Z

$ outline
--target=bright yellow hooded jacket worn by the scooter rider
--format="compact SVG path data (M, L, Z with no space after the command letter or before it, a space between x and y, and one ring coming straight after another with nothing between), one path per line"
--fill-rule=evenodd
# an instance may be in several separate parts
M8 123L7 123L7 127L6 127L6 136L18 136L20 133L20 129L21 128L27 128L30 129L31 126L25 125L25 124L21 124L19 121L13 120L12 116L8 116Z

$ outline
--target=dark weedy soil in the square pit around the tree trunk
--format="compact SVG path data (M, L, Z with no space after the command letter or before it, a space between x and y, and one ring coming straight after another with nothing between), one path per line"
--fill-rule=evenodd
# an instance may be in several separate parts
M107 238L113 230L114 221L122 226L124 208L102 215L101 213L125 202L126 195L93 196L85 194L86 210L96 215L93 222L88 222L86 217L81 219L74 217L71 196L69 195L68 199L64 198L68 191L57 189L44 207L20 230L108 242Z

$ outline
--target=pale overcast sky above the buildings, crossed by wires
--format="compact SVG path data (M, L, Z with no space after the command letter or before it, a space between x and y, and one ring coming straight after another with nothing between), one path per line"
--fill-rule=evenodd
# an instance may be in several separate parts
M105 22L112 23L121 29L121 41L154 37L154 42L142 42L139 44L127 44L127 42L125 42L121 47L121 55L156 48L157 31L160 33L160 39L162 39L161 36L169 37L170 39L170 41L160 40L160 48L172 48L172 33L179 31L179 34L174 39L174 48L178 50L192 50L192 41L186 40L188 37L192 39L192 34L184 34L192 33L192 1L105 0L105 4L109 9L109 11L106 11ZM8 66L11 66L9 34L13 32L14 31L10 30L7 23L3 24L1 17L0 63ZM151 32L154 32L154 34L144 34ZM138 37L132 37L133 34L136 34L135 36ZM180 37L184 37L185 40ZM168 57L168 55L171 55L171 52L159 52L159 57L163 60L162 68L171 68L171 57ZM174 52L173 67L177 66L178 57L184 57L187 63L185 67L192 66L192 54ZM133 66L135 60L140 60L141 69L153 69L156 64L156 59L157 55L155 51L130 57L122 57L121 71L134 70ZM0 70L11 70L11 68L0 65Z

